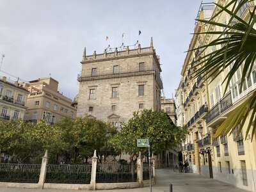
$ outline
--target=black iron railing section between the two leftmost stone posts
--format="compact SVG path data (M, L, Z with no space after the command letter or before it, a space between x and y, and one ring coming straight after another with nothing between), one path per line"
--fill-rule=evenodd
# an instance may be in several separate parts
M90 184L92 165L48 164L45 182Z

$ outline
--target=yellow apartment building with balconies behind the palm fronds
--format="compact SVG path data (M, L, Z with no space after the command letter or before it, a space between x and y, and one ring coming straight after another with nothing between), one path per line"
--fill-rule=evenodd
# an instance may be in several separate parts
M223 6L228 2L230 1L216 1L216 3ZM201 5L202 8L199 12L200 18L201 15L204 14L204 6L205 4ZM237 15L244 20L248 20L249 10L254 7L255 1L247 3L241 8ZM213 8L212 11L214 15L218 12L218 8ZM229 19L230 16L225 14L225 12L216 17L216 21L223 24L227 24ZM196 24L195 31L198 25L200 25L200 23ZM201 26L201 30L205 31L223 30L223 28L218 26L202 24ZM195 39L196 36L200 37L198 37L197 43L195 42L195 44L193 44L193 39ZM216 38L216 35L193 35L189 48L196 48L198 45L208 44ZM189 81L189 69L193 70L193 68L190 68L192 66L186 65L186 61L188 60L188 63L193 63L191 61L193 61L194 58L196 60L196 56L221 49L222 46L223 45L208 47L204 52L200 52L199 50L199 54L195 55L193 55L193 52L190 52L192 56L189 56L188 53L185 59L182 68L182 79L175 95L178 108L178 124L188 127L189 131L188 138L183 143L182 154L184 159L191 158L193 172L200 173L205 177L227 182L228 184L233 184L238 188L256 191L256 141L255 138L253 138L252 141L250 140L252 136L244 140L249 118L246 119L239 136L237 136L237 131L240 126L236 127L234 131L226 136L220 136L212 140L214 132L227 116L248 97L248 94L252 90L255 90L256 63L253 64L252 73L246 75L246 81L243 84L242 90L239 90L239 86L241 85L243 66L238 68L236 75L232 78L230 84L228 84L228 90L226 92L225 87L227 83L223 83L223 81L231 70L231 67L223 70L213 80L210 77L209 81L202 81L202 79L204 80L204 76L200 76L197 79L191 79L191 83L186 83ZM202 85L200 81L202 81ZM196 92L198 92L197 96ZM198 111L195 110L196 104L198 104ZM204 106L204 110L201 109L200 106Z

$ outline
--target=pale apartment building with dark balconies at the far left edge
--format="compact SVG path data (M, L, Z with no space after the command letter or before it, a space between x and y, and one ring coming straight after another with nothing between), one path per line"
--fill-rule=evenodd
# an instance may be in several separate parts
M0 121L23 120L28 97L28 84L20 84L6 77L0 79Z

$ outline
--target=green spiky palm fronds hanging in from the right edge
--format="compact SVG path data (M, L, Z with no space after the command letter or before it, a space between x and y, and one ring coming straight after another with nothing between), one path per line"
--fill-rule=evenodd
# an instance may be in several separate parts
M225 92L228 90L228 85L232 77L236 74L237 70L241 66L243 68L243 72L241 77L241 86L239 89L242 90L243 83L246 81L248 74L250 75L252 73L253 63L255 63L256 60L255 4L253 6L253 11L250 12L250 18L248 21L243 20L237 16L239 10L241 10L241 8L244 6L250 5L250 3L252 3L252 5L254 4L249 0L241 0L239 3L237 3L237 0L231 0L225 6L216 4L220 10L210 20L198 19L199 22L225 28L224 31L218 31L217 29L217 31L206 31L203 33L198 33L205 35L218 35L218 38L209 44L202 45L196 49L204 51L208 47L213 47L216 45L222 45L222 48L209 54L205 54L195 61L197 63L195 65L196 77L207 74L207 79L214 79L220 75L221 72L223 72L223 70L225 70L227 67L232 67L232 69L228 72L227 77L224 79L224 81L227 83ZM223 12L230 15L228 24L222 24L215 21L216 18L219 17ZM241 124L241 128L239 130L239 132L241 132L246 118L250 118L250 120L246 129L245 138L247 138L250 131L252 132L252 135L254 135L256 128L255 105L256 90L253 90L249 94L248 99L244 100L244 102L239 107L232 111L227 119L220 125L220 127L218 127L214 134L214 138L228 134L228 132L235 129L238 124Z

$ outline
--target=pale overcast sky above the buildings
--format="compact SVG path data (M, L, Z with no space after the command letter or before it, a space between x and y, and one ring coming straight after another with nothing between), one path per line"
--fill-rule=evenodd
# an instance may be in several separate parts
M164 95L174 97L200 3L0 0L0 54L5 55L0 76L31 81L51 74L59 82L59 91L73 99L79 90L77 74L84 47L87 55L100 54L109 44L120 47L122 33L124 44L132 45L140 30L141 47L148 47L153 37L161 59Z

